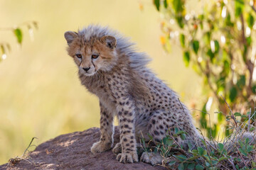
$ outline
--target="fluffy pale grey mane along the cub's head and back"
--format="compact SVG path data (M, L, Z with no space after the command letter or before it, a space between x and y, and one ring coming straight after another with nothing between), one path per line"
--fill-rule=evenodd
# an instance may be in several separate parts
M137 52L134 42L130 42L129 38L124 38L124 36L118 33L116 30L111 30L107 26L97 26L90 25L87 28L78 30L78 35L84 37L85 40L90 40L90 38L101 38L105 35L111 35L117 40L117 52L119 55L125 55L129 57L130 67L133 69L141 69L151 60L144 52Z

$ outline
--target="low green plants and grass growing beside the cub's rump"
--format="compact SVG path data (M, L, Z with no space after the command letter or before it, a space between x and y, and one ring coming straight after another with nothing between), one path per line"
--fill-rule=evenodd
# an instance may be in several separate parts
M168 169L256 169L256 128L248 123L255 114L230 113L227 121L233 122L229 127L232 135L223 141L206 139L203 135L199 142L188 140L186 132L175 128L174 132L166 132L166 137L153 147L152 140L146 145L142 139L142 148L159 152L164 158L162 166ZM240 121L241 117L245 121ZM185 140L184 146L177 142L178 137Z

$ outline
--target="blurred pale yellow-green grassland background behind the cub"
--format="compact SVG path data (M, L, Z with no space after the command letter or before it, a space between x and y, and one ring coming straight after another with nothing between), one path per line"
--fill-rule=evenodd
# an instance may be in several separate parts
M18 46L11 31L0 42L12 50L0 62L0 164L21 156L32 137L36 145L57 135L100 126L97 98L89 94L65 51L63 34L99 23L130 37L153 59L149 67L181 96L188 108L201 103L201 79L184 66L181 49L161 46L159 13L152 1L0 0L0 28L37 21L34 40L26 28Z

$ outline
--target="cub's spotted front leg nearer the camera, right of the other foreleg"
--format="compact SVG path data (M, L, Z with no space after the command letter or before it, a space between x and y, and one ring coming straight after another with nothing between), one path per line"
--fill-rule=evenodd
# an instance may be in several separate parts
M138 162L136 140L134 134L134 105L130 98L121 98L117 107L120 143L122 153L117 154L117 160L123 163Z

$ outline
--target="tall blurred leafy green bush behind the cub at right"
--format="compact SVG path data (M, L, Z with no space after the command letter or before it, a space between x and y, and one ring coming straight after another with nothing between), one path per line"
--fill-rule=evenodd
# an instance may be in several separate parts
M206 103L212 97L218 102L219 123L211 127L211 135L215 137L222 123L221 113L226 115L229 110L220 95L234 111L242 114L255 108L256 2L154 0L154 6L163 16L164 49L171 52L171 44L178 42L186 67L193 68L203 78L202 89L210 98L204 98L200 123L208 136ZM193 7L193 11L188 7ZM250 123L254 121L255 117Z

